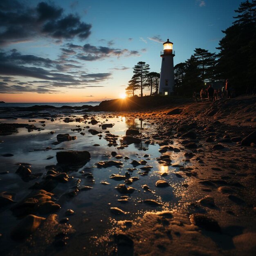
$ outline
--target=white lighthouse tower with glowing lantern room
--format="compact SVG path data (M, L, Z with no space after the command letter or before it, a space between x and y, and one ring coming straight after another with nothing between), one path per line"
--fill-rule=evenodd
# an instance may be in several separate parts
M158 94L171 95L174 87L174 73L173 73L173 57L175 51L173 51L173 43L167 39L164 45L164 50L161 51L162 65L160 73L160 81Z

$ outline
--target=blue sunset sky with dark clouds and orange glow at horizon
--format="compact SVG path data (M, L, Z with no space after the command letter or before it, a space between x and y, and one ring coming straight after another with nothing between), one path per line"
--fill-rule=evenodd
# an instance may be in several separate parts
M137 62L160 72L167 38L174 65L195 48L217 53L222 30L232 25L240 2L1 0L0 101L119 98Z

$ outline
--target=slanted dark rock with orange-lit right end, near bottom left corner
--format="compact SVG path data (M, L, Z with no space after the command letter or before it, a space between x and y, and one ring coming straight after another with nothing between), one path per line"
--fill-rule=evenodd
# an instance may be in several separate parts
M11 231L11 238L14 240L27 238L38 229L44 220L45 218L43 217L29 214Z

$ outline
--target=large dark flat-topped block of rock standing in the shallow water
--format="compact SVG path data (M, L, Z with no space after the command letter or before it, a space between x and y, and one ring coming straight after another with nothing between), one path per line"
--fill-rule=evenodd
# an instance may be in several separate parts
M88 151L60 151L56 153L58 164L79 164L90 160Z

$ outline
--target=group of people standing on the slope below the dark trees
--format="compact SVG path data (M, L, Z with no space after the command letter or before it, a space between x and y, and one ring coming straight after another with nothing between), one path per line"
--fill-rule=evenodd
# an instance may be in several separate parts
M225 86L221 89L213 89L211 85L208 88L202 88L200 91L201 101L216 101L221 98L231 99L231 87L229 85L229 80L226 80ZM198 101L196 92L193 93L193 99L195 102Z

